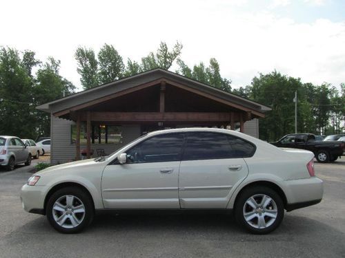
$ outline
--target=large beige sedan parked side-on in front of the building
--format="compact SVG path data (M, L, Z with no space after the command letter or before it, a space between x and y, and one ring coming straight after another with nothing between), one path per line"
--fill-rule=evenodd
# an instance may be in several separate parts
M107 157L35 173L21 203L62 233L81 231L101 210L197 209L234 210L239 224L264 234L279 226L284 209L322 200L313 158L226 129L155 131Z

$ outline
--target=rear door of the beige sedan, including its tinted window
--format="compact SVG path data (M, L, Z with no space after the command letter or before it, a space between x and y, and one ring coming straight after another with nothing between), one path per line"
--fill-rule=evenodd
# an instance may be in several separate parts
M226 208L233 186L248 175L225 133L188 133L179 170L181 208Z

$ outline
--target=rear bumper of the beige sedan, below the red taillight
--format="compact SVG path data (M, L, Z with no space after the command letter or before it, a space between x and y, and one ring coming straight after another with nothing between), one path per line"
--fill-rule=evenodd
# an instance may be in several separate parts
M324 182L317 177L286 180L284 184L288 201L286 211L317 204L321 202L324 195Z

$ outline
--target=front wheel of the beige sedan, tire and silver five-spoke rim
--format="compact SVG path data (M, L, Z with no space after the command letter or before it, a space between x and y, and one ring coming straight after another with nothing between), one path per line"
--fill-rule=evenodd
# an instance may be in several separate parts
M78 213L75 212L77 210ZM66 187L50 196L46 215L48 222L60 233L79 233L92 222L94 208L90 196L85 191L76 187Z

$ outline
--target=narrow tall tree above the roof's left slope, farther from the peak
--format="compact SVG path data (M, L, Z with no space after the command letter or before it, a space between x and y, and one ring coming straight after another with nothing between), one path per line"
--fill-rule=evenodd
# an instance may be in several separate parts
M95 52L86 47L78 47L75 52L77 72L80 74L81 85L84 89L91 89L99 85L98 62Z

